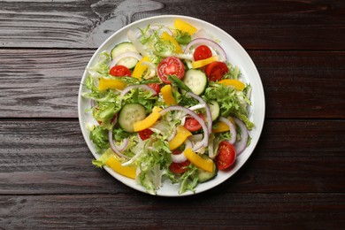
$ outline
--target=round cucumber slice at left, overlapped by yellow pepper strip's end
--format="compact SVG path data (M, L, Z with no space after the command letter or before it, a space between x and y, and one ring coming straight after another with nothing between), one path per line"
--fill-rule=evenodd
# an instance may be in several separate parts
M133 124L146 118L145 108L140 103L127 103L119 111L119 126L126 132L134 133Z

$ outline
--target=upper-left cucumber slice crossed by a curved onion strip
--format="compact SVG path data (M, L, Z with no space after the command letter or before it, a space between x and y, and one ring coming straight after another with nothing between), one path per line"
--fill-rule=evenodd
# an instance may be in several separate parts
M111 50L111 59L114 59L120 54L123 54L126 52L139 53L138 50L135 49L134 44L132 42L122 42L116 45ZM138 63L138 60L136 58L122 58L121 60L119 60L117 65L125 65L128 69L132 69L137 63Z

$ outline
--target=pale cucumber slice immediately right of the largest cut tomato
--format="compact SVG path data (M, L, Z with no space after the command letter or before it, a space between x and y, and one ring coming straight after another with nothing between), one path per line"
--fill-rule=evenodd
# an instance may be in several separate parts
M202 95L207 88L208 79L205 73L201 70L190 69L186 71L182 81L192 90L196 95Z

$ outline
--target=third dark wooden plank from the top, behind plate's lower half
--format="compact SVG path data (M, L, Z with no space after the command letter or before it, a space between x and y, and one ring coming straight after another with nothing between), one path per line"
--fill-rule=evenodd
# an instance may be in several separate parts
M345 120L268 119L249 161L211 193L343 193L344 132ZM0 122L0 194L140 194L91 160L78 120Z

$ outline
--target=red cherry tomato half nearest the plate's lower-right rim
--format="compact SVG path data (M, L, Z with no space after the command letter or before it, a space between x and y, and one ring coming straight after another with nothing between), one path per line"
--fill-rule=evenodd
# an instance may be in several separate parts
M216 157L216 164L219 170L225 170L234 164L236 160L236 151L234 146L226 141L219 143L218 155Z

